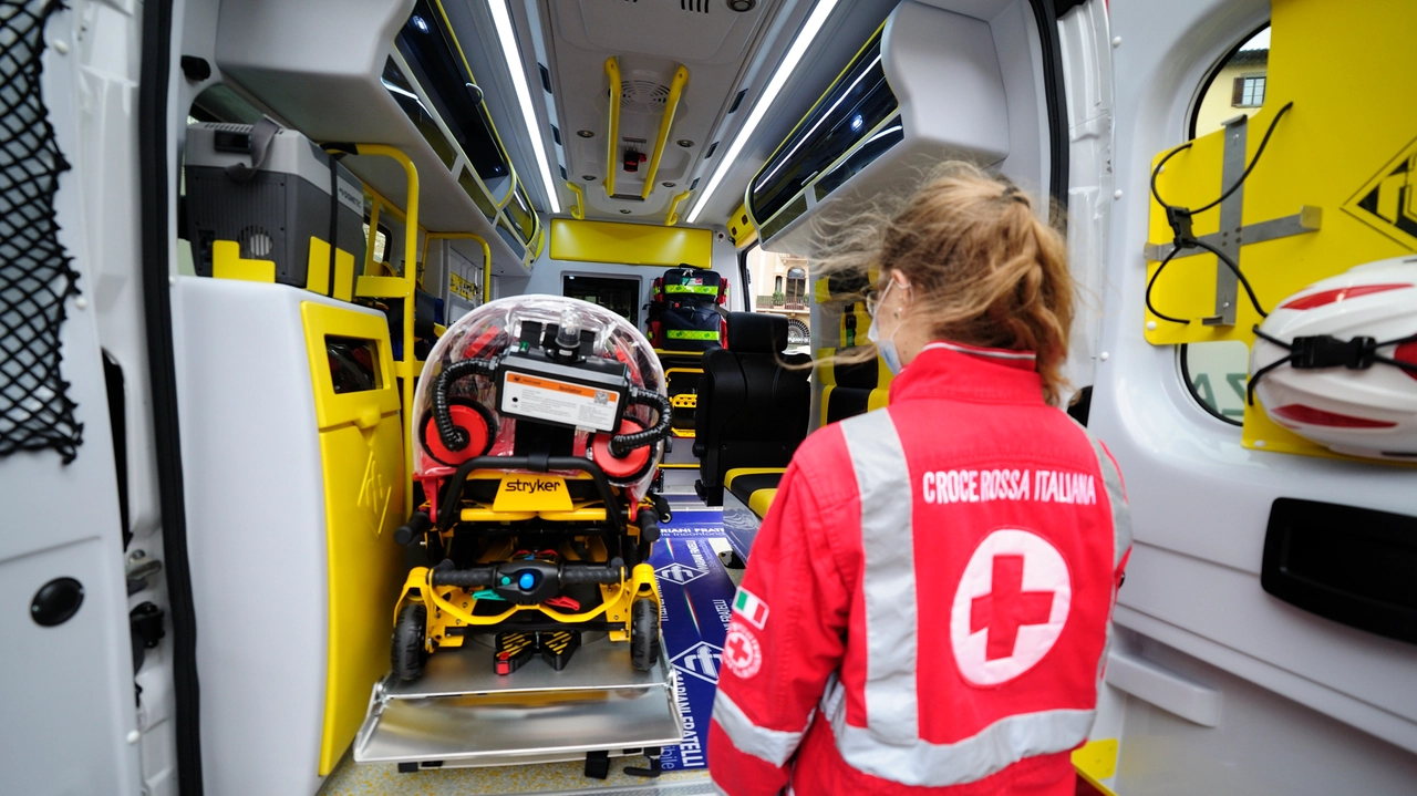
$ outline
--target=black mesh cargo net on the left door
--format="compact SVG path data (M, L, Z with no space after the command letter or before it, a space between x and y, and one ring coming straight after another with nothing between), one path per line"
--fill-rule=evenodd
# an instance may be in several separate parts
M40 96L52 0L0 0L0 456L52 448L74 460L84 426L60 375L64 300L77 273L54 193L69 164Z

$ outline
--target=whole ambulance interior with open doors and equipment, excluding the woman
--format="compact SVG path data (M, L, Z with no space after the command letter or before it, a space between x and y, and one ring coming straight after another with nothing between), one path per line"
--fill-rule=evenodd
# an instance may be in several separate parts
M778 479L890 391L812 263L968 160L1066 231L1134 518L1077 792L1417 793L1408 3L10 6L0 792L716 792ZM1267 343L1363 300L1319 387ZM622 404L534 432L473 340Z

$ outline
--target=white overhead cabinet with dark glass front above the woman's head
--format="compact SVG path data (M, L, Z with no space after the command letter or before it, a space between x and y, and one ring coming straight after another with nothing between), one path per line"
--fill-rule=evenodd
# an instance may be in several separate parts
M1007 6L1000 3L998 6ZM914 0L891 11L748 184L764 245L813 255L808 220L870 200L947 159L1009 154L1009 110L989 21Z

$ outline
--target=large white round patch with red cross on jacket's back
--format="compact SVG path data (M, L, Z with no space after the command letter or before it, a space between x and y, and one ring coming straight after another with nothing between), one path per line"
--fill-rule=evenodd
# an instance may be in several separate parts
M949 612L959 674L975 686L1007 683L1049 654L1073 603L1067 562L1029 531L993 531L975 548Z

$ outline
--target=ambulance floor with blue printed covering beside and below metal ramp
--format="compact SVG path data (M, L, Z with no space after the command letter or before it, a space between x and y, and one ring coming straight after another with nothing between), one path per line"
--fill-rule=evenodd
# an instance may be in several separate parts
M667 484L666 484L667 486ZM718 552L727 551L721 510L708 508L690 494L666 489L674 521L663 528L653 564L665 601L665 644L680 681L686 744L665 749L665 773L643 779L623 773L626 765L643 766L643 758L615 758L608 779L584 775L582 763L526 766L448 768L400 773L395 763L356 765L349 755L334 768L320 796L699 796L714 793L704 771L703 731L708 724L718 650L727 626L733 591L741 569L727 569ZM574 660L572 660L574 666Z

